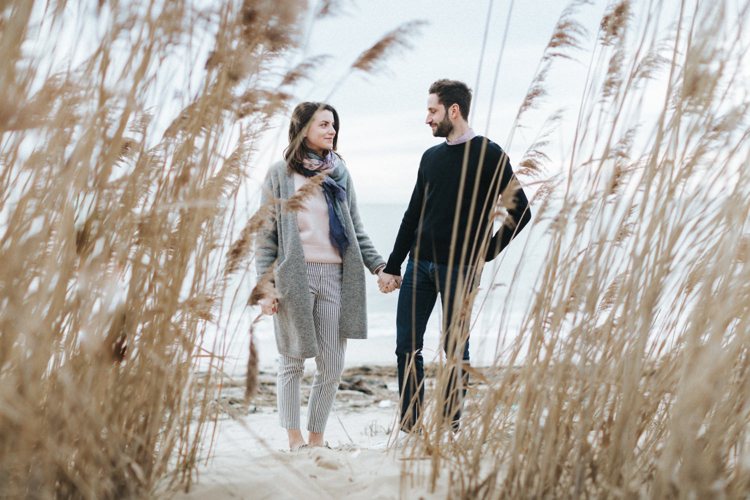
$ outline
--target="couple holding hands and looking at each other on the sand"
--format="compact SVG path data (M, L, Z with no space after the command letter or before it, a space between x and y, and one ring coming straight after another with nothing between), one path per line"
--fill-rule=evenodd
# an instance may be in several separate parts
M367 337L365 268L377 274L381 292L399 289L397 445L421 425L422 341L438 296L450 370L443 418L458 430L468 382L470 297L483 262L494 259L531 218L505 152L469 127L470 103L471 90L463 82L440 79L431 85L425 122L446 141L422 155L388 262L365 233L350 172L336 152L338 113L326 103L294 109L284 160L271 166L263 184L269 227L256 256L263 289L257 304L274 316L279 420L292 451L326 445L323 433L344 371L347 339ZM501 195L505 220L492 234ZM307 442L300 430L305 358L316 361Z

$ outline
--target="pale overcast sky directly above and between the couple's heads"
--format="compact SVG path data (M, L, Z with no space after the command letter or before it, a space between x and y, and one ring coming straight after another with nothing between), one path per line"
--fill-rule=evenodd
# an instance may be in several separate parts
M297 95L299 100L330 96L329 102L341 116L338 148L361 201L408 199L422 152L441 140L433 137L425 124L428 87L436 79L460 79L474 90L470 124L477 133L505 148L513 164L520 160L550 112L577 106L606 3L597 1L580 9L577 17L589 28L587 50L577 52L578 61L565 61L565 69L560 68L547 79L550 96L544 109L532 113L524 121L529 128L517 132L508 144L518 107L566 5L550 0L512 3L511 10L509 0L359 0L344 2L341 15L314 23L308 45L297 56L332 57L313 74L311 82L299 87ZM412 49L391 55L374 73L357 71L336 85L360 52L392 28L416 19L427 24L411 37ZM505 50L490 112L506 24ZM481 59L485 28L487 42ZM269 134L258 157L260 162L270 164L281 157L287 124L285 117L284 124ZM265 168L259 166L259 170Z

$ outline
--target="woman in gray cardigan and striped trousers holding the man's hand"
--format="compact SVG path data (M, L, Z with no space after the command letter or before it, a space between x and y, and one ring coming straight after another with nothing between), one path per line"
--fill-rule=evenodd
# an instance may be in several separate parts
M388 286L380 280L386 262L362 228L349 171L335 153L338 130L338 113L329 104L298 104L285 160L271 166L263 185L262 205L271 204L273 220L257 253L257 271L259 283L275 289L258 303L275 315L279 421L292 451L326 445L323 431L347 339L367 337L364 268ZM300 382L305 358L313 357L306 443Z

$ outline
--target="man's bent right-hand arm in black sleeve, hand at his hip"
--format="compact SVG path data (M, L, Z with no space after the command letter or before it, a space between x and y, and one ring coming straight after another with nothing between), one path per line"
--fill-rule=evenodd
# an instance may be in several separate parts
M484 260L487 262L498 256L508 246L508 243L521 232L521 229L529 223L529 220L531 220L529 200L526 198L526 193L523 193L523 188L520 187L520 183L513 173L511 163L508 161L508 156L505 152L502 153L502 161L500 163L502 164L502 179L500 181L499 193L502 205L505 207L508 215L503 220L500 229L490 239L487 255L484 256Z

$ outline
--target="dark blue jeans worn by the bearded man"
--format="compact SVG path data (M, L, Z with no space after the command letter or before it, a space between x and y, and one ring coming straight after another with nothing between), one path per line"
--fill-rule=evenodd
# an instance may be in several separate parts
M465 299L476 284L475 276L472 266L454 265L449 268L444 264L409 259L398 293L396 312L401 430L412 430L419 423L422 413L422 400L425 397L422 346L427 322L438 295L443 304L443 349L449 361L443 418L454 430L458 430L463 397L466 396L469 382L469 374L462 370L461 363L469 361L470 311L462 305L466 304Z

